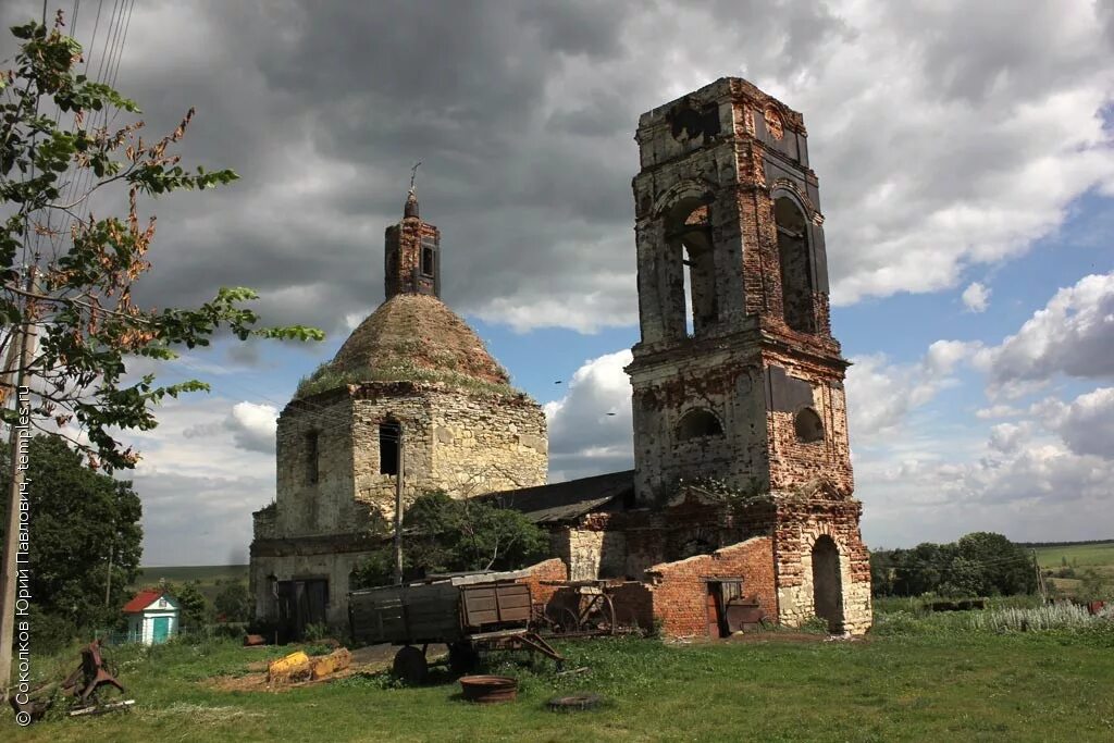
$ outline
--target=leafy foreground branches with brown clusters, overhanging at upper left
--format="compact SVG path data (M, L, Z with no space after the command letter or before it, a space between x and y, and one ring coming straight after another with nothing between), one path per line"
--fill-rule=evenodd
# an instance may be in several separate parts
M61 28L60 14L53 28L35 21L14 27L21 48L14 69L0 74L0 332L10 343L18 325L36 326L38 352L22 369L25 379L36 380L33 422L76 423L88 443L72 443L92 466L111 470L138 458L114 431L152 429L162 400L208 389L196 380L159 385L150 374L128 379L131 358L174 359L175 348L208 345L222 331L240 340L323 334L301 325L256 327L258 316L241 305L257 296L243 287L221 289L196 309L133 304L155 236L154 217L140 219L139 199L213 188L237 176L179 165L172 150L193 110L169 135L140 137L143 123L127 116L138 114L137 105L80 74L81 47ZM53 116L56 105L62 116ZM128 123L114 129L120 114ZM78 183L89 185L80 190ZM94 192L116 192L127 214L96 217L88 201ZM36 266L35 285L21 275L22 264ZM10 392L0 388L0 394ZM2 412L9 422L14 414Z

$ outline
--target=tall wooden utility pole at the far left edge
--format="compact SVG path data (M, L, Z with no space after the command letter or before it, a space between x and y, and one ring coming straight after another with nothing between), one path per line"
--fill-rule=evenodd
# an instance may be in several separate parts
M36 275L35 267L32 266L27 276L28 289L31 293L36 289ZM23 326L21 331L12 331L13 338L11 343L16 343L16 339L19 338L20 350L19 350L19 362L14 369L16 384L13 387L14 399L16 399L16 410L19 411L20 421L26 421L30 419L31 414L31 400L30 397L23 397L20 394L20 389L23 387L23 377L28 365L31 363L31 358L35 355L35 319L32 317L35 309L31 304L30 299L23 304ZM18 335L14 335L18 333ZM4 370L4 381L11 379L12 369L9 366ZM21 466L20 456L23 453L25 444L30 442L31 432L28 428L13 423L11 426L11 437L9 440L9 478L10 488L8 490L8 524L3 532L3 563L0 565L0 586L2 586L2 593L0 593L0 697L3 701L8 700L8 693L11 685L11 651L12 642L16 637L16 583L18 570L16 568L16 559L19 553L19 517L20 517L20 500L23 498L25 486L25 468Z

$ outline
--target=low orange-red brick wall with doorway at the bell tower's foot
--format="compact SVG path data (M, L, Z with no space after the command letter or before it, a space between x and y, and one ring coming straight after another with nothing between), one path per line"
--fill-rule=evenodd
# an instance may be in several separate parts
M662 563L646 570L646 577L653 586L654 616L662 620L666 635L707 634L705 578L742 578L743 595L756 596L769 616L778 616L770 537L754 537L711 555Z

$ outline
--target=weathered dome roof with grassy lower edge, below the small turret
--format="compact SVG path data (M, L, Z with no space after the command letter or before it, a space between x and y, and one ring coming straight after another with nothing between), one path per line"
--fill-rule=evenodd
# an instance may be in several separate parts
M436 296L398 294L352 331L332 361L303 380L296 397L399 381L512 391L507 371L457 313Z

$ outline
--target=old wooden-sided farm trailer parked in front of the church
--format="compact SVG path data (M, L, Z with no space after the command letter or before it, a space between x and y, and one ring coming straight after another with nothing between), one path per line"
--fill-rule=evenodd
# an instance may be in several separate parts
M527 575L525 570L463 573L353 590L349 594L352 637L402 645L394 655L394 673L409 683L426 677L426 651L439 643L449 646L449 664L458 672L475 664L479 653L494 649L540 653L560 664L564 658L530 627L530 588L516 583Z

